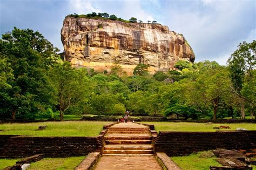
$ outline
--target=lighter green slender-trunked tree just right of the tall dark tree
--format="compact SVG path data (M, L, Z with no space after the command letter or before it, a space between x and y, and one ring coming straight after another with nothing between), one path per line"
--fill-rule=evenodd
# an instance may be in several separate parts
M86 97L85 73L73 69L69 62L64 62L50 69L49 79L54 87L52 95L55 96L62 121L65 111Z

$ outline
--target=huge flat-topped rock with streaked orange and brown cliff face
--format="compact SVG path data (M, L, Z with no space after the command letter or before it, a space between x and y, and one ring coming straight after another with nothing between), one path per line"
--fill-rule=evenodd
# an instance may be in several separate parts
M96 71L110 71L116 62L128 75L139 63L149 64L154 73L195 59L185 38L160 24L66 17L61 37L65 60Z

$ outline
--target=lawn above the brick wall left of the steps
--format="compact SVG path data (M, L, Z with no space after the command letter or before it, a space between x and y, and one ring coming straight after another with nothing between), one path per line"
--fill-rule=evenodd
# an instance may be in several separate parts
M30 135L35 137L96 137L106 121L46 121L41 123L0 124L1 134ZM38 126L48 125L37 131Z

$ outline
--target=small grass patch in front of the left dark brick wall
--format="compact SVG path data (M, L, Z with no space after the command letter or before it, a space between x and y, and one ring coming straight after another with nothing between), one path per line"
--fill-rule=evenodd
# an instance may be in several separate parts
M85 157L44 158L31 163L32 169L74 169Z

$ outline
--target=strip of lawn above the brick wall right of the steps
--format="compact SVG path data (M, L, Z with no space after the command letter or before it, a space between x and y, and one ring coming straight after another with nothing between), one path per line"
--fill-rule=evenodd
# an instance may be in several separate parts
M255 124L239 123L239 124L210 124L205 123L174 123L174 122L144 122L145 124L153 124L156 131L187 131L187 132L215 132L215 126L225 125L230 126L230 129L220 129L223 131L236 130L238 127L246 128L247 130L256 130Z

